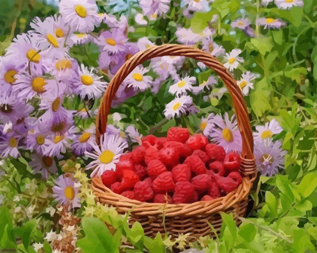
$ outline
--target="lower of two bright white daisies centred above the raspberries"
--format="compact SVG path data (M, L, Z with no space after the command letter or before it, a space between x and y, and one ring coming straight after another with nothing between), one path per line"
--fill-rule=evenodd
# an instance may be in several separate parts
M190 96L182 96L174 98L170 103L166 104L163 113L166 118L171 119L175 116L184 115L188 111L193 111L193 99Z

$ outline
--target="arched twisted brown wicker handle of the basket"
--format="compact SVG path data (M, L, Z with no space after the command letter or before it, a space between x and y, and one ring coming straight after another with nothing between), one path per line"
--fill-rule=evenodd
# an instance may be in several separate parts
M242 136L241 158L243 158L249 164L247 167L249 167L250 173L248 174L251 174L251 171L253 173L255 164L253 155L253 136L251 133L249 114L245 106L242 92L236 84L236 80L223 66L223 64L219 62L214 56L197 48L183 45L165 44L161 46L151 46L143 51L138 52L121 66L119 71L109 83L99 106L96 122L96 141L98 145L100 144L100 136L106 131L107 119L111 109L111 102L120 84L136 66L142 64L146 60L162 56L186 56L201 61L209 68L213 69L223 80L230 92L234 108L236 109L237 123Z

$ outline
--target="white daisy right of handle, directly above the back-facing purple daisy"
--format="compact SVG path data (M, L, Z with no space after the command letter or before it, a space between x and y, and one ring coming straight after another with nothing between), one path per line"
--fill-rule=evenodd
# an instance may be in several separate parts
M271 138L275 134L283 131L278 121L272 119L270 122L265 123L265 126L256 126L256 131L253 133L254 142L264 141L266 145L271 142Z

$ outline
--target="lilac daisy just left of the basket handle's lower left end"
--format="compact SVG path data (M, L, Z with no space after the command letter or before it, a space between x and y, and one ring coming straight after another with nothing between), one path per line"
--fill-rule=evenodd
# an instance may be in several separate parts
M71 149L75 155L83 156L86 151L92 151L96 145L95 125L92 125L80 133L75 133Z

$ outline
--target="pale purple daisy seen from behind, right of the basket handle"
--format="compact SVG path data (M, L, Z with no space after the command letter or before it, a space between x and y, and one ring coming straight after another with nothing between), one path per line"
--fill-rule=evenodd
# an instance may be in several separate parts
M263 142L254 146L254 155L258 171L264 176L273 176L278 168L284 167L286 151L281 149L280 141L271 142L268 146Z

